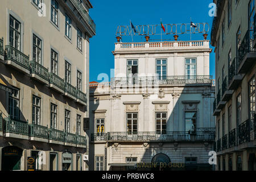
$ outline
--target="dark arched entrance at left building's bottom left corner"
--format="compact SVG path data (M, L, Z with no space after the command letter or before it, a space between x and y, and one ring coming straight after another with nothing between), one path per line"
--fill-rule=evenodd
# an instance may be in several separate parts
M2 148L2 171L20 170L22 152L22 149L15 146Z

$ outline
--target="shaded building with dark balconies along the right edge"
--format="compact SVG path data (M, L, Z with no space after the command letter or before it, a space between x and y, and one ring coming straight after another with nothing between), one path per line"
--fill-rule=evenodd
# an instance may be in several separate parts
M255 0L214 2L216 169L255 171Z

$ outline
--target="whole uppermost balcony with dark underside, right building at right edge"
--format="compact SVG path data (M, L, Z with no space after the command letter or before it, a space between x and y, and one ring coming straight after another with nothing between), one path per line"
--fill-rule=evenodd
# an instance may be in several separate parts
M238 73L247 73L253 65L256 59L256 49L253 48L253 30L248 30L241 42L241 46L238 49Z

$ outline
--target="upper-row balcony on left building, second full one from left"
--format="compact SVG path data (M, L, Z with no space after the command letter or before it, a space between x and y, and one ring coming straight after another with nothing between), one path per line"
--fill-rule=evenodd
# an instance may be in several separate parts
M30 61L30 75L35 80L42 82L43 84L49 84L48 69L36 61Z

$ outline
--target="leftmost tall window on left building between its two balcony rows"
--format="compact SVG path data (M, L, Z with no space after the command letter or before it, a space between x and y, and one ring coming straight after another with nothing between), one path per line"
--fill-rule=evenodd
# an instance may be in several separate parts
M9 93L9 115L11 119L19 119L19 90L15 88Z

